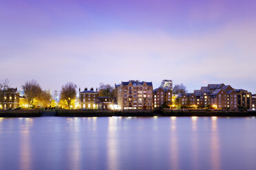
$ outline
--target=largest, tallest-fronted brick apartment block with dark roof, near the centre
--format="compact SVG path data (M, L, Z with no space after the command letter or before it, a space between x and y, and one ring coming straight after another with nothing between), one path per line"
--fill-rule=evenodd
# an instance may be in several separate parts
M152 82L130 80L115 84L115 95L118 108L121 110L153 109Z

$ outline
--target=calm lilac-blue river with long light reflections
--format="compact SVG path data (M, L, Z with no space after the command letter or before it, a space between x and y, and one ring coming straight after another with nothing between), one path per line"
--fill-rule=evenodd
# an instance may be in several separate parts
M0 169L256 169L256 119L0 118Z

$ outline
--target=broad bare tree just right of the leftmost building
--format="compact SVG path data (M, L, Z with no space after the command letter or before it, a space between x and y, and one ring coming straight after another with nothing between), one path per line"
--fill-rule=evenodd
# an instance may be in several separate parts
M34 99L39 98L42 92L41 86L36 82L36 80L30 80L22 85L25 93L25 97L28 98L28 105L34 104Z

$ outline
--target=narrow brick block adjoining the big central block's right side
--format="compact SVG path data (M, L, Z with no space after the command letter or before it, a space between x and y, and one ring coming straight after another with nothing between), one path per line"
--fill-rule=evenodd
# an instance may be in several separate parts
M165 104L171 106L173 90L171 88L156 88L153 90L153 106L154 108L161 108Z

